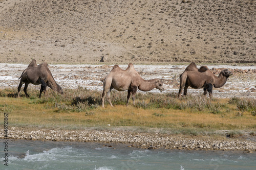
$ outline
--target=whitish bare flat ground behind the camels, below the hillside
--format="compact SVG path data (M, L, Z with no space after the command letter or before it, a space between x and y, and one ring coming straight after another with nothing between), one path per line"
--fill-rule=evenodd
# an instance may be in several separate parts
M8 64L0 63L0 86L4 88L17 88L19 84L18 78L22 75L27 64ZM134 65L135 69L139 72L141 77L145 80L161 78L164 79L164 92L177 92L179 91L179 75L184 71L185 65ZM209 69L219 71L223 68L228 68L233 72L233 76L228 78L227 83L221 88L214 88L213 95L217 98L231 98L233 96L242 96L249 98L256 98L256 66L243 66L243 65L207 65ZM49 65L55 81L62 88L75 89L78 86L86 87L87 89L103 90L102 82L100 81L107 75L113 65ZM120 65L125 69L127 65ZM199 67L199 66L198 66ZM24 87L24 86L23 86ZM30 88L37 88L30 84ZM139 91L141 92L141 91ZM159 92L154 89L152 92ZM202 89L188 88L188 93L198 95L203 92Z

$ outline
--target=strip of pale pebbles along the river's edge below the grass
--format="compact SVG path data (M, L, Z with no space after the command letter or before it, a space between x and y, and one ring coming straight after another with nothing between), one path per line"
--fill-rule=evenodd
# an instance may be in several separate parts
M4 139L4 131L0 138ZM129 147L141 149L184 149L184 150L221 150L221 151L256 151L256 142L238 139L211 140L207 138L182 137L158 133L130 133L99 130L48 130L12 127L7 139L42 140L42 141L78 141L99 143L126 143Z

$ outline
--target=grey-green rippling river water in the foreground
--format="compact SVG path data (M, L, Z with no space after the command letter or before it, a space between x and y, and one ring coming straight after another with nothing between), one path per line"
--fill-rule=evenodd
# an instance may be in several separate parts
M0 139L1 143L5 140ZM123 144L8 140L0 169L256 169L256 154L144 150Z

